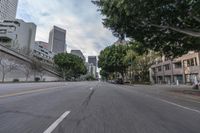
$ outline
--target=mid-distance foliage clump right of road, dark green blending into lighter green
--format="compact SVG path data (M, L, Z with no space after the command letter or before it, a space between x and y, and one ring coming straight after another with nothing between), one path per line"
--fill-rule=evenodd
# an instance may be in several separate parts
M149 81L149 68L160 55L152 51L137 52L138 45L138 42L131 42L127 45L112 45L102 50L98 62L102 79L115 79L116 73L120 73L124 78L127 72L131 71L141 81Z

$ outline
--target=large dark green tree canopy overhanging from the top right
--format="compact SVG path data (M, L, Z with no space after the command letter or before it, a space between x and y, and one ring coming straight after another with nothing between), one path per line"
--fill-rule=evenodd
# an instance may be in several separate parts
M142 48L178 56L200 50L199 0L94 0L103 24L119 38Z

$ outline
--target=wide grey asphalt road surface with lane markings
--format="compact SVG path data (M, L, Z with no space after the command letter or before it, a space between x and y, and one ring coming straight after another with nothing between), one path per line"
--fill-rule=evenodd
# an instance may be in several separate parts
M0 84L0 133L200 133L200 103L154 86Z

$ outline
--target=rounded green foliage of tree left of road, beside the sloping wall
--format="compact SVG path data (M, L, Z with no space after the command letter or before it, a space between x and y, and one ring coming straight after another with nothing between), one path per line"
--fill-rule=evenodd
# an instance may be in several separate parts
M87 73L84 61L75 55L68 53L60 53L54 57L54 63L58 70L63 74L63 78L71 80L78 78Z

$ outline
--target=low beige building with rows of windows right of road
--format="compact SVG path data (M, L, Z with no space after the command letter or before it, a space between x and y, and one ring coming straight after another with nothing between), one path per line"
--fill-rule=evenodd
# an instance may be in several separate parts
M200 81L200 52L189 52L174 60L163 58L156 61L150 68L152 83L172 84L193 83L195 78Z

